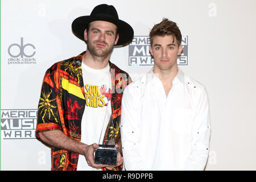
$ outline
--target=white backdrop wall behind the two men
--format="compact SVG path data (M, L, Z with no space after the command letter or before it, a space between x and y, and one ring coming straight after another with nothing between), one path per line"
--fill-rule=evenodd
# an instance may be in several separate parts
M101 3L114 5L137 38L148 36L163 17L178 24L188 49L180 68L209 94L206 170L255 170L255 0L2 0L1 169L51 169L50 148L35 139L43 76L56 61L86 49L71 23ZM152 67L139 65L139 56L138 65L129 65L130 56L129 46L115 48L111 60L134 79Z

